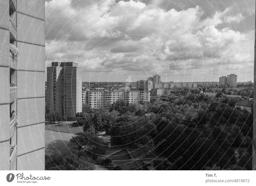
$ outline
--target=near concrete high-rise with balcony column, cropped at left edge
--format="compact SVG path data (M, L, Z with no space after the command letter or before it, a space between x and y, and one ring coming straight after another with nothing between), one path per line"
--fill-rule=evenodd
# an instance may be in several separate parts
M0 170L44 170L44 14L0 1Z

